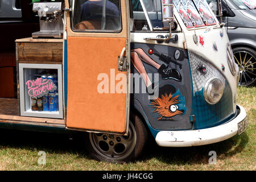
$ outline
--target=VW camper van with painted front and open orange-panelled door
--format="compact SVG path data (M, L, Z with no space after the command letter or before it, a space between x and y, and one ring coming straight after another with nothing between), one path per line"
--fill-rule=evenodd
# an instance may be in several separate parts
M1 127L84 132L97 160L216 143L247 127L239 68L206 0L34 2L40 31L17 39L17 97ZM0 78L3 79L3 78ZM2 88L2 87L1 87Z

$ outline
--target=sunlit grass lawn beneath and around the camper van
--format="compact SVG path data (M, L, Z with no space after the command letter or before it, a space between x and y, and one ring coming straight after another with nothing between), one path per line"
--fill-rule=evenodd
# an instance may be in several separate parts
M255 170L256 87L238 88L237 102L249 115L241 135L207 146L165 148L151 144L142 158L127 164L92 159L68 135L0 130L0 170ZM46 164L38 164L38 152L46 152ZM209 151L216 151L217 164L210 165Z

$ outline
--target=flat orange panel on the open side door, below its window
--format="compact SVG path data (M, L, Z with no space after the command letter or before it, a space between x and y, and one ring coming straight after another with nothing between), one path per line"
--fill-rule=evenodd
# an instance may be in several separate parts
M126 48L126 39L68 37L67 43L67 126L124 133L126 93L110 93L110 79L115 79L110 69L115 75L121 73L118 56ZM109 93L98 92L98 76L102 73L108 75Z

